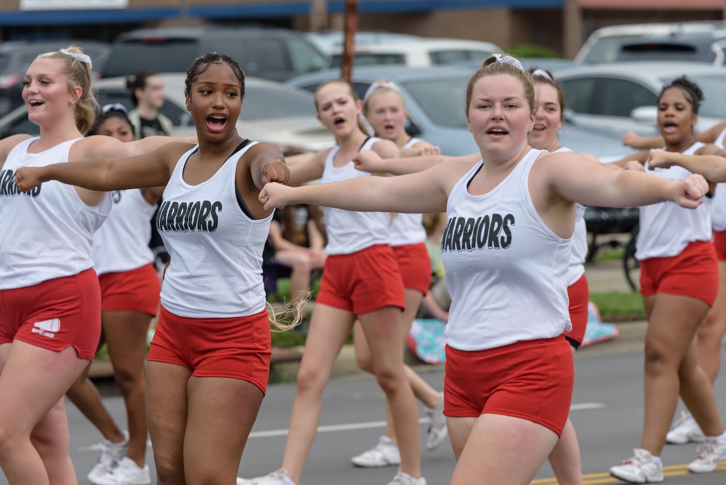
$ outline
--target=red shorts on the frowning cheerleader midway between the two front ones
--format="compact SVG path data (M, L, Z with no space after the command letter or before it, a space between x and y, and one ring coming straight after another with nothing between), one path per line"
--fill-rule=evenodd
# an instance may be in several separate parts
M328 256L315 302L356 315L384 306L405 308L404 284L393 250L377 244L352 254Z

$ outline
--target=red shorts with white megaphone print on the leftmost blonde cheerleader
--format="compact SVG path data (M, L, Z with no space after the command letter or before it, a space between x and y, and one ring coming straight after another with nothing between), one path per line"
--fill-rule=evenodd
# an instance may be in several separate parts
M101 335L101 291L93 269L0 290L0 343L15 338L52 351L73 347L93 360Z

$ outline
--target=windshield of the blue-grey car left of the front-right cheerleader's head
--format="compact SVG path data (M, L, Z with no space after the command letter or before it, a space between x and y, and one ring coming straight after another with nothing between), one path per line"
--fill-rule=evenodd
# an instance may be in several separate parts
M466 128L466 84L469 78L450 78L403 83L417 104L439 126Z

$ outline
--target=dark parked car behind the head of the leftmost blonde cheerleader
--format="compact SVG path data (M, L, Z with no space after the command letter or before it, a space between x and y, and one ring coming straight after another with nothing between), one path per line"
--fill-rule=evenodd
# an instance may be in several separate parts
M5 41L0 44L0 116L23 104L23 76L30 62L44 52L65 49L71 44L81 47L93 60L93 73L103 67L110 44L81 39L57 41Z

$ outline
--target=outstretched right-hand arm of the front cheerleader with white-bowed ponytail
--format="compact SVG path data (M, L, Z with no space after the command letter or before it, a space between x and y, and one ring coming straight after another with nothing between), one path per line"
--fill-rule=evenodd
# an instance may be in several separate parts
M691 175L682 181L664 179L633 170L608 170L582 160L574 153L547 158L540 170L556 194L583 205L638 207L673 200L696 208L709 191L706 179Z

